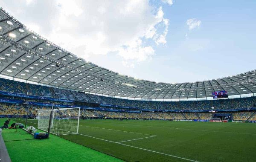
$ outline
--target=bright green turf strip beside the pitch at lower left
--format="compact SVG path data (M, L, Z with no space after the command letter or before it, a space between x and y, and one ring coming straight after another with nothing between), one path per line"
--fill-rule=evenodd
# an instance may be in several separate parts
M2 124L5 120L0 119ZM18 121L18 120L16 120ZM11 120L10 123L14 121ZM78 145L58 136L33 139L22 129L4 129L2 132L12 162L118 162L112 156ZM24 140L28 139L28 140ZM13 141L15 140L15 141Z

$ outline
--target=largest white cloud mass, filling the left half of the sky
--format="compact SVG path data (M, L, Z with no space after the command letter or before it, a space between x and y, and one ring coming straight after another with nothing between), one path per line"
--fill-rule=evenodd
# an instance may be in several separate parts
M126 67L135 67L151 60L156 45L166 43L169 20L164 18L162 7L151 6L148 0L28 1L44 12L28 9L26 2L10 0L14 15L18 15L17 9L24 9L18 20L89 61L95 55L115 53L121 56L121 60L116 57L118 61L126 61ZM155 44L148 45L148 40Z

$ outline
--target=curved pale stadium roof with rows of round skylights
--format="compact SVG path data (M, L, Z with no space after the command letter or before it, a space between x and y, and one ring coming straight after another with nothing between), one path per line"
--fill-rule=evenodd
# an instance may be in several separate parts
M221 90L227 90L229 95L256 93L256 70L189 83L160 83L121 75L62 49L3 8L0 8L0 74L35 84L122 98L207 98Z

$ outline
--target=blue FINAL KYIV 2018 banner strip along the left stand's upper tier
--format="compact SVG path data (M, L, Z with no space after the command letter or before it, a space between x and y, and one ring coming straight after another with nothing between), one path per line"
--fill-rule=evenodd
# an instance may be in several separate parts
M20 93L11 93L11 92L4 92L4 91L0 91L0 94L1 94L1 95L14 96L14 97L23 97L23 98L31 98L31 99L40 99L40 100L73 102L72 100L66 100L66 99L48 98L48 97L35 96L35 95L24 95L24 94L20 94Z

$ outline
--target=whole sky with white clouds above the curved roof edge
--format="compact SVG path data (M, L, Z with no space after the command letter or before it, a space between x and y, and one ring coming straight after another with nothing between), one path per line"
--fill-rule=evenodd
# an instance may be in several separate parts
M256 69L255 0L0 0L58 46L124 75L157 82Z

